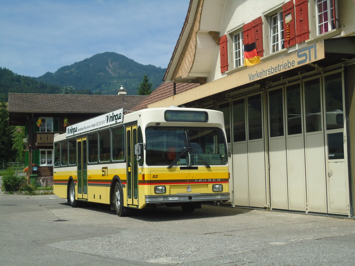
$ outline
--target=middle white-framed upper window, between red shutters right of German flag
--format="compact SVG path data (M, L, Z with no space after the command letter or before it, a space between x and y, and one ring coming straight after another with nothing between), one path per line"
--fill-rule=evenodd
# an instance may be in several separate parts
M284 18L282 11L269 16L270 54L285 48Z

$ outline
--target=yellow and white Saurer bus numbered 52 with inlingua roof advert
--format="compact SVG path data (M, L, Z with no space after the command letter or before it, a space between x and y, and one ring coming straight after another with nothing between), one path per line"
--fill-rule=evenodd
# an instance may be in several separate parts
M119 109L67 126L54 137L54 194L72 207L132 209L230 200L223 113L215 110Z

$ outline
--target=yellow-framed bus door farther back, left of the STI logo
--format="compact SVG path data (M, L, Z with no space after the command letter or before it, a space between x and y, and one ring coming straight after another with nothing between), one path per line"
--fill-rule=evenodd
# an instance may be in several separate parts
M87 177L87 139L81 138L77 139L77 189L78 189L78 199L88 198L88 177Z

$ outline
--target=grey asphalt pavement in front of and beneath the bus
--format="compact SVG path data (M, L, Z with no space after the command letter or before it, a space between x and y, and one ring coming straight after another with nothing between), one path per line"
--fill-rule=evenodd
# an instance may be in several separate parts
M203 205L118 217L0 192L0 265L355 265L355 221Z

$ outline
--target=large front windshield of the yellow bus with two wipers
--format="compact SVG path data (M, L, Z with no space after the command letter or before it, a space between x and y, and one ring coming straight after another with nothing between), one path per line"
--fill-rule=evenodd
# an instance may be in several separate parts
M223 131L212 127L147 127L147 165L225 165ZM170 168L169 167L169 168Z

